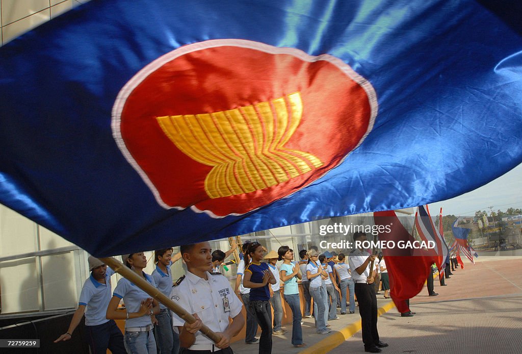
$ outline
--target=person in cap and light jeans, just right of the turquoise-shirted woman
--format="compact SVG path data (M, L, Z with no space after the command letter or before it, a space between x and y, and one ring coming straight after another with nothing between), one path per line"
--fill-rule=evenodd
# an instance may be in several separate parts
M310 279L310 293L314 299L314 308L317 306L317 311L314 310L314 316L316 321L316 331L318 334L328 334L331 331L326 328L325 318L325 299L326 291L323 287L323 278L328 275L324 272L323 267L317 261L319 252L315 250L308 251L308 265L306 266L306 277Z

